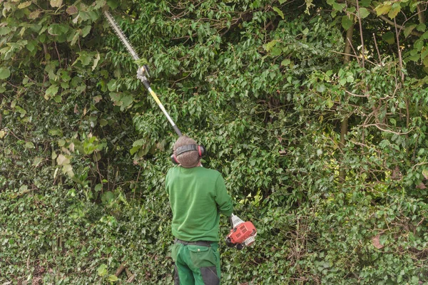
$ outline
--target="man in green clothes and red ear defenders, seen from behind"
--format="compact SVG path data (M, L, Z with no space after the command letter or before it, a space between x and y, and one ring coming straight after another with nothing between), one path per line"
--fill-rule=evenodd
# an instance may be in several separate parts
M220 284L220 213L229 217L232 199L220 172L200 165L205 149L181 136L173 146L178 166L168 171L166 191L173 211L175 285Z

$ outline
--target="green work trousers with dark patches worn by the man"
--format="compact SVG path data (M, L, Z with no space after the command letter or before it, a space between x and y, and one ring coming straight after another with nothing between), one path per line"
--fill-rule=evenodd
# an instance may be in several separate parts
M173 244L171 257L175 262L175 285L220 284L220 253L218 243L210 246Z

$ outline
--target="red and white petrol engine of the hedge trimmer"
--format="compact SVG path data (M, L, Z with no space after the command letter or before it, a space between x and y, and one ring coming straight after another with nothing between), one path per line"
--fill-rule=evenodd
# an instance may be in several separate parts
M257 229L255 229L252 222L244 222L238 216L232 214L230 217L230 224L232 224L232 229L230 229L230 233L228 237L226 237L226 244L228 247L243 249L255 242Z

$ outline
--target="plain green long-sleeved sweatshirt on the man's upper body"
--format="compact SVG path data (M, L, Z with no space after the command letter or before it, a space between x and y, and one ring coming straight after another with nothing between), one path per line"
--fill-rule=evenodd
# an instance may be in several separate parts
M187 242L218 242L220 213L233 212L220 172L176 166L168 171L165 186L173 210L173 236Z

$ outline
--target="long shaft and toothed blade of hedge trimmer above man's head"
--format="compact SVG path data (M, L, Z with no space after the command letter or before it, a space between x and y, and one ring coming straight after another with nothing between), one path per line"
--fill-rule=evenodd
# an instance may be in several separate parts
M121 39L123 45L125 45L126 49L131 54L131 56L133 57L133 59L135 61L138 61L140 59L138 57L138 54L133 49L133 46L131 45L131 43L129 43L128 38L126 38L125 34L121 30L121 28L119 28L118 24L113 19L113 17L111 16L111 14L108 13L107 10L104 10L104 16L106 16L106 18L108 20L108 23L113 28L113 30L116 32L116 34L118 35L118 37ZM143 85L146 87L146 89L148 90L148 92L152 95L153 99L158 104L159 108L161 108L163 114L165 114L165 117L168 119L169 123L173 126L173 129L175 130L175 133L177 133L177 135L179 137L181 137L182 134L180 132L180 129L177 127L177 125L175 125L173 119L171 119L170 115L165 110L165 107L163 107L163 105L161 103L161 100L159 100L159 98L158 98L158 95L156 95L156 93L150 87L150 82L148 81L148 77L150 77L150 75L148 73L148 66L143 65L143 66L138 67L137 78L141 80L141 82L143 83Z

